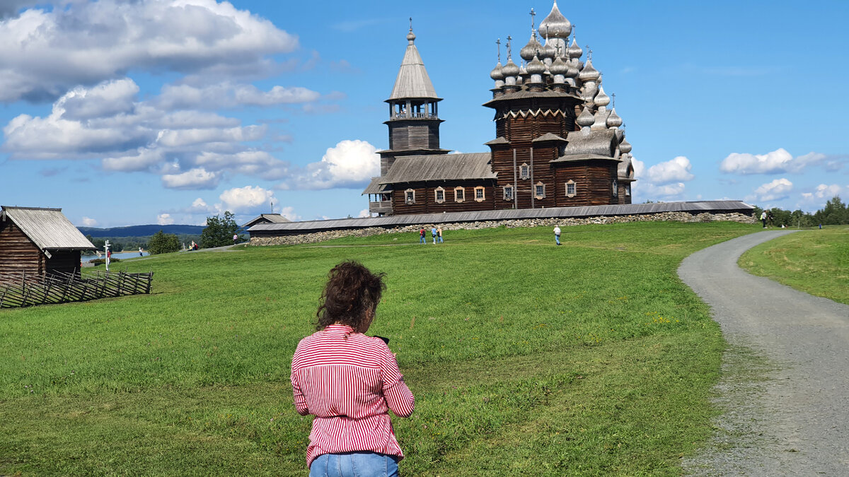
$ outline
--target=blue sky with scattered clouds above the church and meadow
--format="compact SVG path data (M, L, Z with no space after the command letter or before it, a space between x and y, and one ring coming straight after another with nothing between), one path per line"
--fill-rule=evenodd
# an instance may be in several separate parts
M552 2L0 0L0 205L77 226L363 216L413 18L441 147ZM633 202L849 199L849 2L561 2L633 145Z

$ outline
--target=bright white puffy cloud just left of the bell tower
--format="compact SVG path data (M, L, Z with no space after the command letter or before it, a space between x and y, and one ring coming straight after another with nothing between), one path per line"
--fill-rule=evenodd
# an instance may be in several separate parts
M327 149L321 161L313 162L279 188L357 188L380 174L380 154L367 141L344 140Z

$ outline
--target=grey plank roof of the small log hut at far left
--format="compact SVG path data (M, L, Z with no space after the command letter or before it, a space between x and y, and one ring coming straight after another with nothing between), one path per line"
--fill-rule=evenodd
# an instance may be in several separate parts
M3 205L0 221L11 220L33 244L43 250L95 250L62 209Z

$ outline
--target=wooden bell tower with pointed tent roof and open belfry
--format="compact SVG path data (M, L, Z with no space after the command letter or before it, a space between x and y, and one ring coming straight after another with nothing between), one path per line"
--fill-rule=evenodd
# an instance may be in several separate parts
M419 49L415 45L413 19L407 34L407 51L395 79L395 87L386 103L389 104L389 149L379 151L380 176L385 176L396 157L404 155L447 154L439 147L438 103L430 76L424 69Z

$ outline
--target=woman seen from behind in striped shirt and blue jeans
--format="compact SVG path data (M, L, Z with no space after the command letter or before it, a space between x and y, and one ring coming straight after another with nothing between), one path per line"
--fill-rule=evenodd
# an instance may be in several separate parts
M356 261L333 267L318 306L318 331L292 356L292 392L302 416L315 415L306 447L310 475L398 475L403 458L388 411L415 405L395 355L366 336L385 289L383 274Z

